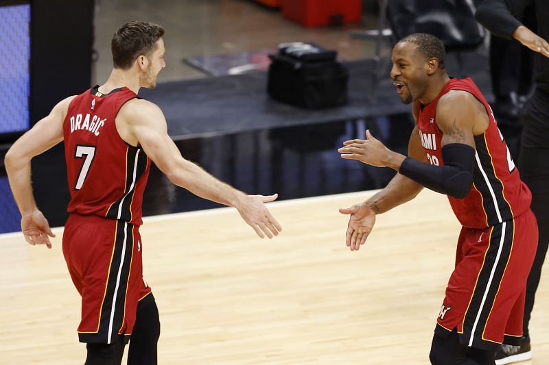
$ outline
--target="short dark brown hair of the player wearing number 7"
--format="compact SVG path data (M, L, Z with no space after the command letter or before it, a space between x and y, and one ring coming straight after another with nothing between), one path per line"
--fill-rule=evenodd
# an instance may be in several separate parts
M150 55L156 49L156 41L164 36L158 24L130 21L118 28L110 41L115 68L126 70L140 55Z

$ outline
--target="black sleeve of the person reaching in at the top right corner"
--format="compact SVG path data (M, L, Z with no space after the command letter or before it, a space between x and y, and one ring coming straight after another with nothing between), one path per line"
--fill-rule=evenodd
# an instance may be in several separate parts
M476 10L475 18L495 36L513 39L513 32L522 25L524 8L531 0L484 0Z

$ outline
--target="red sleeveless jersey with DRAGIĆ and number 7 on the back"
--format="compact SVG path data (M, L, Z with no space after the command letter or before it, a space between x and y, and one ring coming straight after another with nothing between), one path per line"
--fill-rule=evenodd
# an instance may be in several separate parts
M71 101L63 123L69 213L141 225L150 160L143 149L121 139L115 123L121 106L135 97L126 87L104 95L95 86Z

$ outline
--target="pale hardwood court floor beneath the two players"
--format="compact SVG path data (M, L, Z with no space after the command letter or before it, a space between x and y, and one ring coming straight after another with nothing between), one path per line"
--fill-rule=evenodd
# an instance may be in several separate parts
M338 213L372 192L269 205L260 240L231 208L148 218L145 279L161 312L159 364L428 364L459 225L429 191L377 218L358 252ZM0 236L0 364L82 364L78 293L60 251ZM549 274L531 336L549 364ZM545 330L544 330L545 329Z

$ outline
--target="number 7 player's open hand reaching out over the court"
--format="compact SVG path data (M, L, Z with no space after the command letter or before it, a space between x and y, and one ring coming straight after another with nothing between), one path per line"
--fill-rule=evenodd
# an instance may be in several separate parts
M270 214L265 203L277 200L279 194L272 195L245 195L237 210L242 219L250 225L261 238L278 236L282 231L280 223Z

